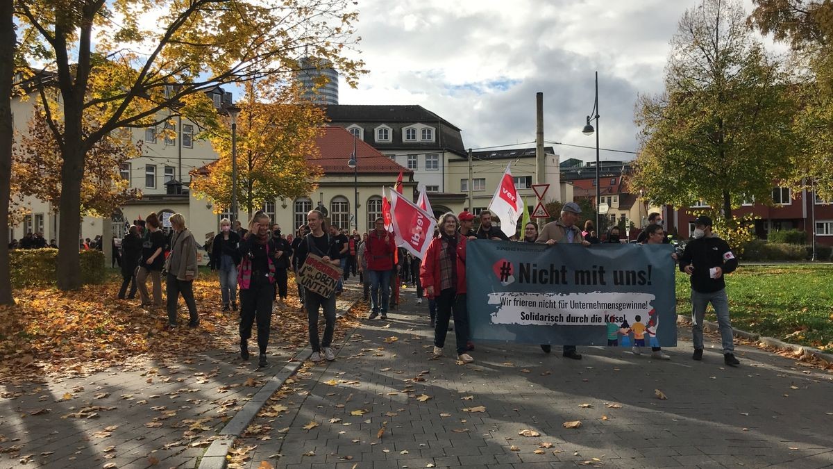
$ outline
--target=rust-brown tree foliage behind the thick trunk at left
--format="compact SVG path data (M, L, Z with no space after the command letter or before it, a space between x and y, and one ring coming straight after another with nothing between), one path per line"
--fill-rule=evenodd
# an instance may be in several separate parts
M22 134L14 145L12 204L22 202L27 196L48 202L52 207L61 204L62 154L46 114L39 105L35 105L28 132ZM56 125L61 131L60 121ZM117 129L92 145L87 152L81 184L81 213L108 216L127 201L139 199L141 191L131 189L130 181L122 178L119 168L128 159L140 155L141 144L132 142L130 129ZM12 213L14 211L12 207Z

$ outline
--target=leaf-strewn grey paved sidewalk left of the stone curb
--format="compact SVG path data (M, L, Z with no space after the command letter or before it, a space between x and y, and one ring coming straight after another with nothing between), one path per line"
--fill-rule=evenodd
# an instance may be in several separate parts
M352 300L339 303L347 309ZM195 467L225 423L307 342L306 335L281 340L282 321L298 314L277 311L267 368L257 369L254 331L252 358L240 359L232 324L225 335L201 328L170 336L205 334L216 350L0 383L0 469Z

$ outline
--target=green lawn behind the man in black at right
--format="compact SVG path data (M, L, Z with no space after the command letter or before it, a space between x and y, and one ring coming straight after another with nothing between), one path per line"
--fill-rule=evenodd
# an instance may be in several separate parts
M677 272L677 312L691 314L688 276ZM833 351L833 265L741 265L726 277L732 325ZM709 307L706 320L716 320Z

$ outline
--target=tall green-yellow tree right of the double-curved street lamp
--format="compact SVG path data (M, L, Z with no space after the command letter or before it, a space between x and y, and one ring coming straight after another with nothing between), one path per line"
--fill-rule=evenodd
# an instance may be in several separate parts
M686 11L665 86L636 104L640 149L630 187L654 204L702 200L726 220L743 200L771 202L772 184L790 173L795 103L736 0Z

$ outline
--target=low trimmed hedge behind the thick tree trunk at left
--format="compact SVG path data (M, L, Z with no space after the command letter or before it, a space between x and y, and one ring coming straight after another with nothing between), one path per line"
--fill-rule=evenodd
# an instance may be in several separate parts
M98 284L104 281L104 253L100 250L83 250L81 259L81 281L83 284ZM57 250L10 250L9 269L12 286L49 286L56 283Z

